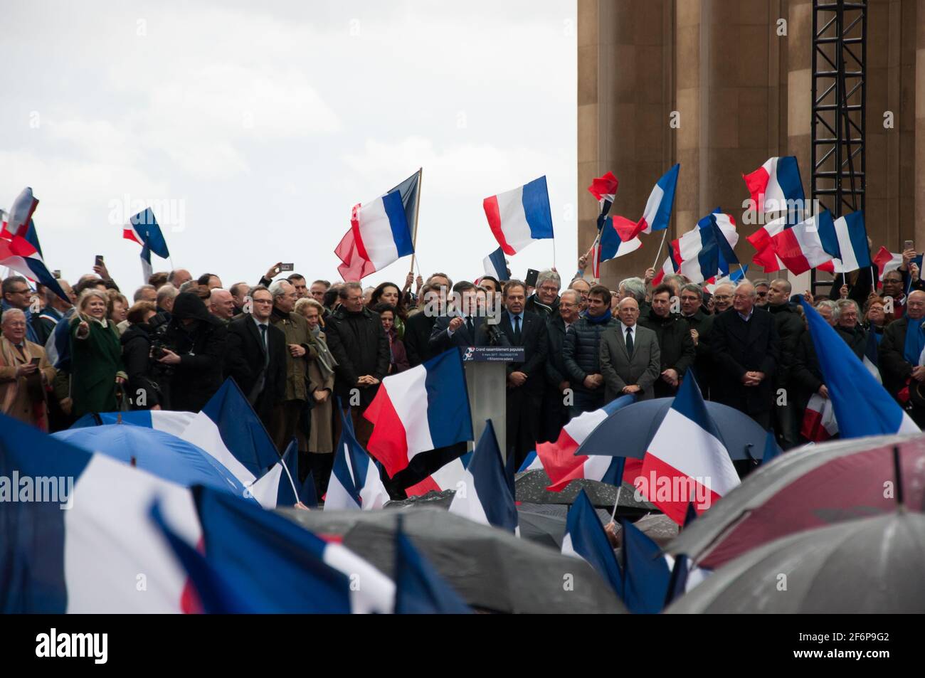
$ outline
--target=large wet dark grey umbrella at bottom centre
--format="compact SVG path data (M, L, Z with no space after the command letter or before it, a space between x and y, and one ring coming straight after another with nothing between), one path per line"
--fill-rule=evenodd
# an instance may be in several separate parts
M342 538L344 546L388 576L394 575L395 530L401 517L401 529L414 548L477 609L626 611L586 561L446 511L277 511L317 535Z

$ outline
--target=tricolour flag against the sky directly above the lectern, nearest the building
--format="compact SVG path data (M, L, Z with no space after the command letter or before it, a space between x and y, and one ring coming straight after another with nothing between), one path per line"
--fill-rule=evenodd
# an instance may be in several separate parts
M516 254L534 240L552 238L546 177L482 201L488 227L505 254Z

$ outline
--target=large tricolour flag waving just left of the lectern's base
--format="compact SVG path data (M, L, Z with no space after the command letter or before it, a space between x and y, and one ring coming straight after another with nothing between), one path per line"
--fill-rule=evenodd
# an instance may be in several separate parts
M364 417L375 426L369 453L388 477L414 455L472 440L472 414L462 356L450 349L424 364L387 376Z

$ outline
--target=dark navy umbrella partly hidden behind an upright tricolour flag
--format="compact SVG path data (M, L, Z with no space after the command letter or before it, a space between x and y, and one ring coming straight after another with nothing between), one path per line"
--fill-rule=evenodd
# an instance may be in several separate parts
M617 410L598 424L575 454L642 459L672 401L673 398L656 398L634 402ZM750 416L732 407L719 402L706 404L707 412L716 422L726 450L729 450L729 458L734 461L759 461L768 432ZM683 440L678 441L678 444L683 443Z

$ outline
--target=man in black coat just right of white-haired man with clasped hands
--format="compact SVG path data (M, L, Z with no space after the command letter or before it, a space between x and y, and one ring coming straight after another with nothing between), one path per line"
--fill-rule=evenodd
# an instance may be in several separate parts
M796 310L796 306L790 303L790 292L790 281L786 278L771 280L768 305L765 306L774 317L777 336L781 339L781 361L777 364L775 388L783 388L786 399L775 399L774 427L783 450L790 450L797 444L799 423L795 403L791 402L793 394L790 393L790 371L793 368L796 345L805 329L803 317Z

